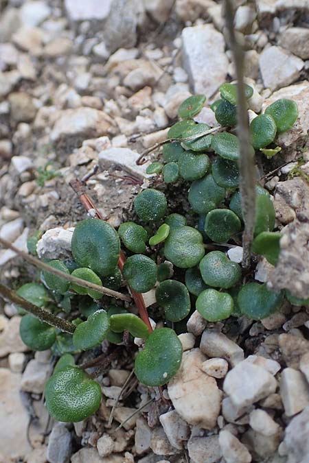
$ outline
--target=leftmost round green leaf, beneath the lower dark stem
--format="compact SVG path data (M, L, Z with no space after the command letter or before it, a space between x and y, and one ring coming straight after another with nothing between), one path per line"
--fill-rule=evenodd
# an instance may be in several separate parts
M30 313L23 316L19 325L21 340L33 351L46 351L56 341L56 331L50 324L41 322Z

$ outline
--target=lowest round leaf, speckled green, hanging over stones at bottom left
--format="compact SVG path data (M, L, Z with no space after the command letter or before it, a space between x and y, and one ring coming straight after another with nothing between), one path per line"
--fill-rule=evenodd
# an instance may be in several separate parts
M100 385L76 366L67 366L47 381L45 400L49 414L58 421L82 421L100 407Z

